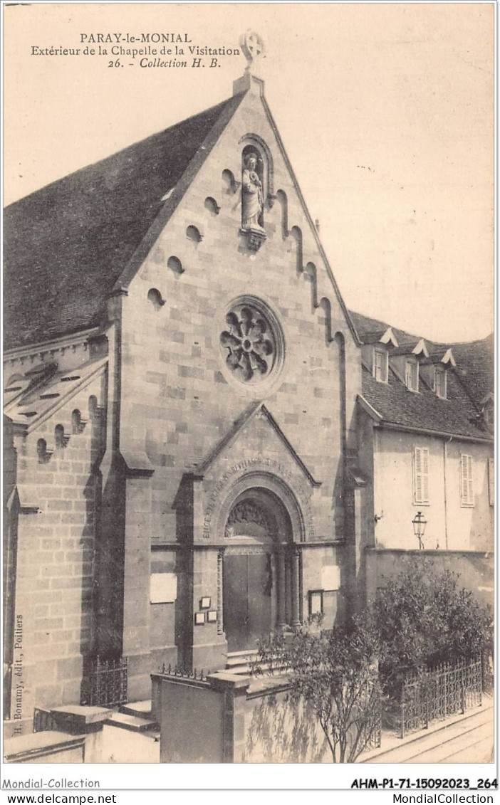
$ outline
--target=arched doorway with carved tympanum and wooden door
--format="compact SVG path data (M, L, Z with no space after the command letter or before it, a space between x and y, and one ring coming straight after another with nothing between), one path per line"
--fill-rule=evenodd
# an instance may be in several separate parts
M225 524L223 622L228 651L252 650L258 639L291 623L290 517L269 489L247 489Z

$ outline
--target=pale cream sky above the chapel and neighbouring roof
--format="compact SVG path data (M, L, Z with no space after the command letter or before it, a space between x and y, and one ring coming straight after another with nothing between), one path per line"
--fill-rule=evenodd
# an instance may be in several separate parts
M488 335L493 3L4 6L4 203L217 104L246 66L241 55L217 68L109 67L117 56L83 52L98 47L90 35L180 33L234 49L249 28L348 308L434 341Z

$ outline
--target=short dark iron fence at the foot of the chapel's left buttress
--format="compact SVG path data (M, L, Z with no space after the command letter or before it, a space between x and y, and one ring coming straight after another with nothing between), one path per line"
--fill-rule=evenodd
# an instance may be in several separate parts
M127 701L126 657L93 657L87 660L81 704L119 707Z

